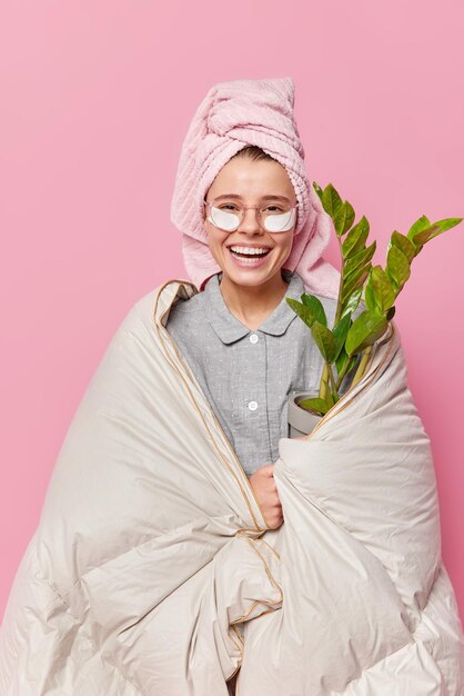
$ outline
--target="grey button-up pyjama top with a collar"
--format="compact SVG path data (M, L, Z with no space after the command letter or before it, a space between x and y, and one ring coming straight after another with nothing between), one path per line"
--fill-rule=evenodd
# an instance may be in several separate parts
M285 296L255 330L225 304L220 288L222 271L212 276L201 292L176 300L165 325L246 476L278 460L279 440L289 437L289 395L293 390L319 391L324 366L311 330L285 301L286 297L301 299L303 280L286 269L282 276L290 281ZM333 326L336 300L316 297L324 306L327 326ZM339 395L350 386L356 366L357 361L345 375Z

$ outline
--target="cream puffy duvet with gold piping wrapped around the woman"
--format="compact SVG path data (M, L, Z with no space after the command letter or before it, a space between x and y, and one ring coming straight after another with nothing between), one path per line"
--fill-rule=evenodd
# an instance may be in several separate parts
M396 326L306 439L280 440L270 529L164 328L195 291L137 301L90 381L10 593L0 694L463 696Z

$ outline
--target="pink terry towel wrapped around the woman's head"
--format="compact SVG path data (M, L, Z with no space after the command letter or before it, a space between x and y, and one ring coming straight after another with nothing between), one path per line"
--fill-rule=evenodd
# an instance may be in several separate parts
M307 291L337 297L340 272L321 256L335 231L307 179L293 105L293 79L276 78L220 82L198 107L181 149L171 221L182 232L185 269L200 291L221 270L208 245L203 198L228 160L255 145L285 167L297 199L293 247L283 268L296 270Z

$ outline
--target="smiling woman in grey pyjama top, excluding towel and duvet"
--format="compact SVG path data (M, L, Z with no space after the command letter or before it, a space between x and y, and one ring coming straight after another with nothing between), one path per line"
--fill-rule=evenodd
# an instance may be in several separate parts
M202 292L178 302L167 324L271 527L283 521L273 461L279 439L288 437L288 398L296 389L317 389L323 368L311 332L285 301L305 291L297 271L285 268L296 209L280 162L255 146L232 156L204 198L205 236L221 270L203 282ZM336 301L320 300L333 318Z

